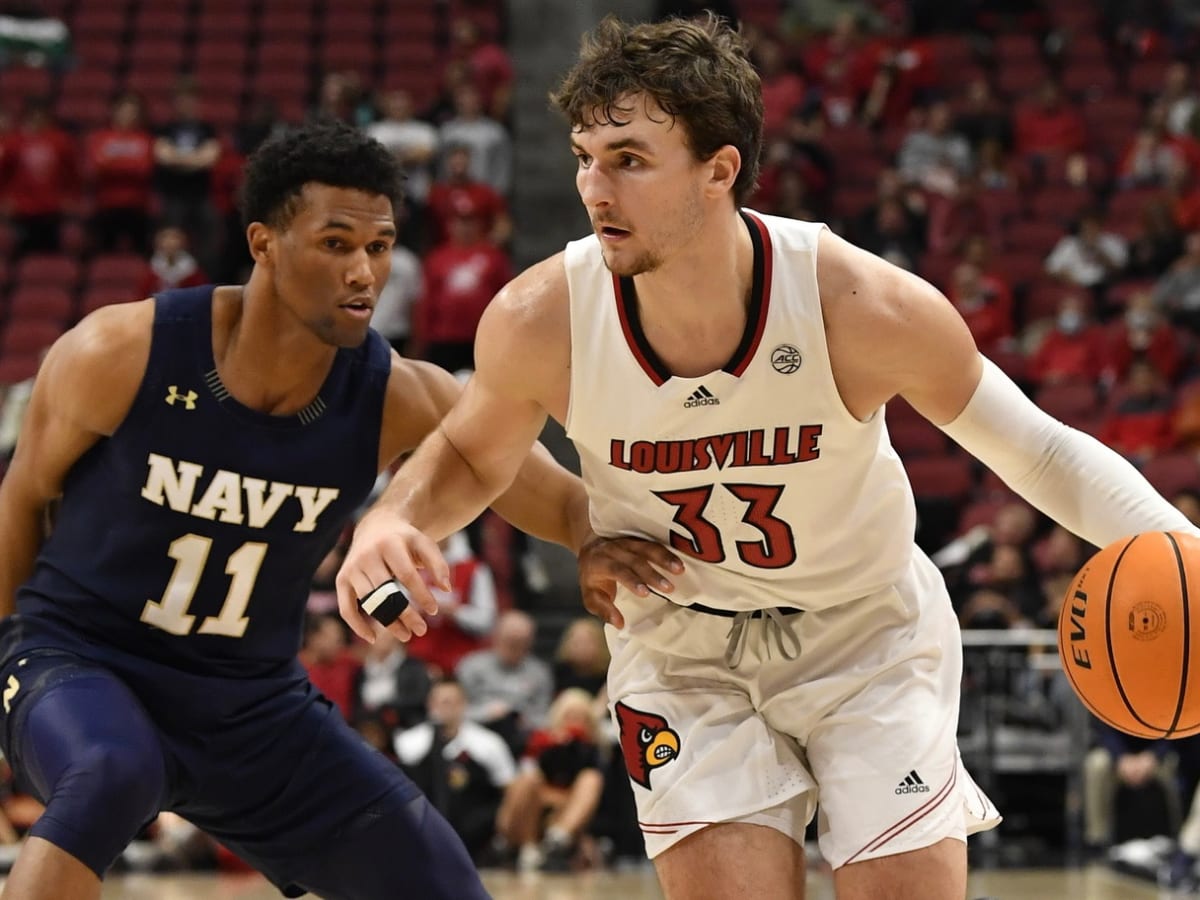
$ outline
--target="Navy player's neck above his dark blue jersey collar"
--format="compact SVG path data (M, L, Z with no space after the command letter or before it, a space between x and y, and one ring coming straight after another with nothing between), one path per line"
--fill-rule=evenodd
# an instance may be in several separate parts
M308 406L324 384L337 350L292 320L269 298L223 288L212 302L212 354L224 388L242 406L269 415L292 415ZM224 293L229 292L229 293ZM266 300L266 302L259 302ZM282 314L281 314L282 313Z

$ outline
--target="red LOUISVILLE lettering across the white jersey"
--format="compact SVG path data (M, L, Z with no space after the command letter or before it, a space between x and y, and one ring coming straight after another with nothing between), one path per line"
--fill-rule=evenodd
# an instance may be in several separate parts
M821 425L752 428L685 440L612 440L608 464L626 472L702 472L758 466L791 466L821 456Z

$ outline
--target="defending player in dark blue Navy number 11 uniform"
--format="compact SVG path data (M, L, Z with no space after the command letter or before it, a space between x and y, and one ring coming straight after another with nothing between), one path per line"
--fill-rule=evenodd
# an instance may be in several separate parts
M100 896L160 810L289 896L486 896L295 660L318 562L458 394L368 330L401 180L348 126L271 142L245 286L110 306L50 349L0 485L0 743L46 803L7 900ZM518 482L497 508L577 546L578 480L541 451Z

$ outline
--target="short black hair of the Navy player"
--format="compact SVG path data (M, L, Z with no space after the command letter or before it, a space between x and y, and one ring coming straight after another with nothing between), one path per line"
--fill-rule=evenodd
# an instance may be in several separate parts
M253 152L241 188L242 223L286 227L304 186L313 182L383 194L391 200L392 215L398 215L404 197L403 169L388 148L352 125L322 119L290 128Z

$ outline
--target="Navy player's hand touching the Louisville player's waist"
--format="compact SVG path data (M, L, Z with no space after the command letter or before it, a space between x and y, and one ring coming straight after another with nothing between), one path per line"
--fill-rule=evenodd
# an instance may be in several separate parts
M638 596L670 594L674 584L664 572L682 571L683 560L661 544L641 538L593 538L580 550L583 607L613 628L625 628L617 608L617 586Z

